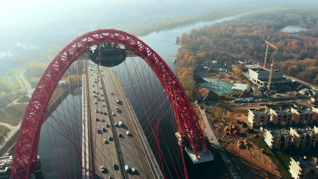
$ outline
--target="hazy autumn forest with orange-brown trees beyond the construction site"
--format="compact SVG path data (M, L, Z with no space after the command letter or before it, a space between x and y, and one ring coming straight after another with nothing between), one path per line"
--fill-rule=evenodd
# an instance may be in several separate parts
M286 26L307 30L283 32ZM181 36L178 50L179 69L207 60L227 62L234 60L264 63L266 43L269 48L268 68L275 58L275 69L314 85L318 85L318 13L311 9L268 11L240 16L211 26L192 29ZM212 52L212 54L211 54ZM282 63L301 61L301 63ZM183 70L184 71L184 70ZM182 83L182 82L181 82Z

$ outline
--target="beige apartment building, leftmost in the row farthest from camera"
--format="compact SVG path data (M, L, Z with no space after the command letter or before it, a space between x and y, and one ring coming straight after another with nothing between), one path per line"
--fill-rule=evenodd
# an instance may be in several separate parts
M253 126L263 126L270 122L269 109L267 107L260 109L248 109L247 120Z

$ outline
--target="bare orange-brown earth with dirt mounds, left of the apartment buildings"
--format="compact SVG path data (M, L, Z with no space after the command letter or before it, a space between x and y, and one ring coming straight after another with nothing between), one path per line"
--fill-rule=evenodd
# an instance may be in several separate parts
M258 107L261 106L254 108ZM243 178L280 178L281 176L275 170L276 166L272 161L257 146L247 140L247 138L255 137L256 134L247 134L247 137L233 134L235 130L251 128L247 121L248 108L250 107L231 107L231 112L227 111L221 118L213 120L215 130L236 161L235 165L239 168Z

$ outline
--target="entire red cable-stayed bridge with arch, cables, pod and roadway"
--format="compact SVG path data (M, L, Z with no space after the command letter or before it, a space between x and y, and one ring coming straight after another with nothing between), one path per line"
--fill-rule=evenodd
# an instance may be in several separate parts
M42 147L52 151L58 178L187 178L183 150L194 163L213 160L167 64L114 29L79 36L49 64L26 107L10 178L30 178L38 153L51 152Z

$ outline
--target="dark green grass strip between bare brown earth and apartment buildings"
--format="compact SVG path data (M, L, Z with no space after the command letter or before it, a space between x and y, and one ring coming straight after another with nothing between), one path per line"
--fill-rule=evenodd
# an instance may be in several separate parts
M286 163L285 165L281 163L281 161L287 162L286 156L282 156L282 155L276 156L276 154L272 151L272 149L270 149L265 144L265 141L263 139L253 138L248 140L254 143L255 145L257 145L260 149L264 149L264 154L266 154L272 160L272 162L276 165L283 179L291 179L288 170L286 170L285 168L285 166L289 165L289 162ZM279 157L283 157L283 159Z

